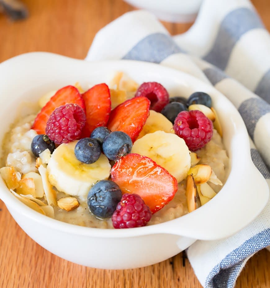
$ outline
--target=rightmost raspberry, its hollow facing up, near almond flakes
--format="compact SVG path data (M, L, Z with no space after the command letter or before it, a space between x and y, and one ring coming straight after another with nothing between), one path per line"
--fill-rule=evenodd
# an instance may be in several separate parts
M195 151L204 147L213 136L213 123L199 110L182 111L174 120L173 130Z

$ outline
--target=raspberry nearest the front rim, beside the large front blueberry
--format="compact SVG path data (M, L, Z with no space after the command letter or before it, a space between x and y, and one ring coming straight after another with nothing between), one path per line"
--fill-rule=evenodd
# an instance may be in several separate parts
M135 228L145 226L152 213L138 194L124 194L112 215L113 226L118 228Z

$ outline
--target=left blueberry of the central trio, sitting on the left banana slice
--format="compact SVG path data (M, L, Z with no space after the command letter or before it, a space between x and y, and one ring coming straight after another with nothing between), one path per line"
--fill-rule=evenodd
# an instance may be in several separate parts
M79 161L92 164L99 158L101 147L97 139L83 138L76 144L74 153Z

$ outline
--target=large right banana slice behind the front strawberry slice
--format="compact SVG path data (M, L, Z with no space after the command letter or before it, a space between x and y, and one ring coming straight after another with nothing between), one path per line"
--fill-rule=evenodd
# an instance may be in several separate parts
M191 165L185 141L175 134L164 131L156 131L137 139L131 153L151 158L158 165L167 169L178 182L187 177Z

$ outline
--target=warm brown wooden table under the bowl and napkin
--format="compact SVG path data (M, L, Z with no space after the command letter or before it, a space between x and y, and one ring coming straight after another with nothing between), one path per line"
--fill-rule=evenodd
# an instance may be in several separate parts
M121 0L25 0L29 17L12 22L0 14L0 62L21 53L49 51L83 59L94 35L104 25L133 10ZM270 4L253 0L270 30ZM171 34L185 32L191 24L164 23ZM202 287L182 254L149 267L101 270L65 261L30 239L0 201L0 287ZM270 253L253 256L236 287L270 287Z

